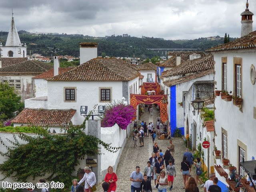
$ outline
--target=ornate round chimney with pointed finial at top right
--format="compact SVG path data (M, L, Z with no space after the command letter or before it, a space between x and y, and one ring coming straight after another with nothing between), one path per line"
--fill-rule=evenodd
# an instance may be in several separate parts
M246 9L244 12L241 13L242 16L242 28L241 28L241 37L249 34L252 32L252 16L254 15L252 12L248 9L248 0L246 2Z

